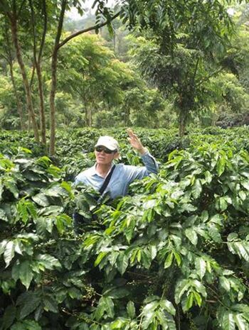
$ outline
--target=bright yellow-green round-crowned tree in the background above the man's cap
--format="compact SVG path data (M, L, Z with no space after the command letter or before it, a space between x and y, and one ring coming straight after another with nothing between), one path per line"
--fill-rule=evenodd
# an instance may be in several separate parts
M86 126L92 126L92 114L98 104L104 109L120 104L124 83L132 84L134 80L134 72L116 60L104 42L86 33L66 45L59 56L58 87L80 99Z

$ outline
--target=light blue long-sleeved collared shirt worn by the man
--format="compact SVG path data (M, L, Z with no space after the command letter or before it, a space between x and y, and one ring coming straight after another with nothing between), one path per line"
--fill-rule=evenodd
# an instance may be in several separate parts
M142 179L150 173L158 172L159 165L148 151L144 153L141 158L145 166L117 164L112 173L110 182L103 194L110 194L112 199L115 197L124 196L127 194L129 184L131 182L137 179ZM75 177L75 185L83 182L85 185L91 186L97 191L100 190L104 181L105 178L97 174L96 165L88 168L88 170L81 172L77 175L77 177Z

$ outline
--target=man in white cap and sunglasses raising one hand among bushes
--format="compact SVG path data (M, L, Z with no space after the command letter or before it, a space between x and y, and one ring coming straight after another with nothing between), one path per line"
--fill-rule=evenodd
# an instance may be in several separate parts
M127 194L129 184L137 179L157 173L159 165L149 151L144 148L141 141L132 129L128 129L129 143L141 155L144 167L117 164L112 172L112 177L103 194L109 194L111 199ZM111 136L100 136L95 145L96 163L88 170L81 172L75 178L75 185L79 182L92 186L99 191L105 178L113 167L112 161L119 157L119 145Z

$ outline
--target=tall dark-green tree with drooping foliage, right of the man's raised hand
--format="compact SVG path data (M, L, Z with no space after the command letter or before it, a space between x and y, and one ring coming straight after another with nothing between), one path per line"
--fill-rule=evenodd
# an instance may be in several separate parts
M229 1L125 2L124 20L131 28L147 31L149 44L144 43L138 52L142 73L165 96L176 93L179 134L183 136L206 80L222 70L216 55L224 53L233 32L225 6Z

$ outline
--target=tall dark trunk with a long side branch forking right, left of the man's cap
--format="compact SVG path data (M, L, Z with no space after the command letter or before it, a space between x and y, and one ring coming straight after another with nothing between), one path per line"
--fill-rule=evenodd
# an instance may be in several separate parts
M56 90L56 71L57 71L57 57L58 57L58 45L60 42L60 35L63 28L63 19L65 14L65 6L67 0L63 0L60 10L60 18L58 23L57 35L55 38L55 45L53 48L52 62L51 62L51 72L52 72L52 81L51 81L51 92L50 92L50 124L51 124L51 133L50 133L50 145L49 145L49 154L54 155L55 153L55 90Z

